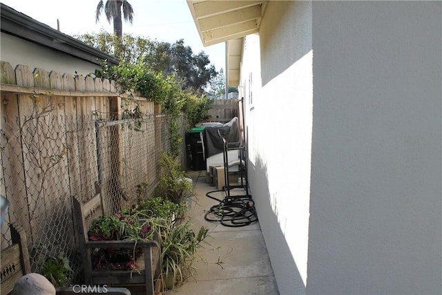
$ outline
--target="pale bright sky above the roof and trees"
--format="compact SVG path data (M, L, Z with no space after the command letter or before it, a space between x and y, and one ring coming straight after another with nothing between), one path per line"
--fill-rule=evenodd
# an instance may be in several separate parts
M106 0L104 0L106 1ZM57 28L67 35L81 35L86 32L113 31L106 16L95 23L95 9L99 0L0 0L1 3L32 17L41 23ZM203 47L191 12L185 0L129 0L135 12L133 24L123 22L123 34L142 36L157 41L173 43L184 39L193 53L201 50L209 55L216 70L225 72L225 45Z

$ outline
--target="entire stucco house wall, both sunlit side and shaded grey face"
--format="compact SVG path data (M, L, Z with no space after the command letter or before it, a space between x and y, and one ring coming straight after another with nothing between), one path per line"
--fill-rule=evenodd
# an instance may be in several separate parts
M440 1L269 1L245 38L280 294L442 294L441 21Z

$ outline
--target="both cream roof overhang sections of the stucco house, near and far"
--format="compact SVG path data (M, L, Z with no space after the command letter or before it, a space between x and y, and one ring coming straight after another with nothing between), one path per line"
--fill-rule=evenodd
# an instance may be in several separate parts
M202 44L227 42L227 84L240 84L242 38L260 29L268 1L187 0Z

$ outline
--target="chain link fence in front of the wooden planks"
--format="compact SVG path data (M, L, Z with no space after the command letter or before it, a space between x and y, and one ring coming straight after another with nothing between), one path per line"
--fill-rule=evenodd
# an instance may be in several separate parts
M10 224L26 230L33 272L48 258L69 261L75 283L81 269L73 224L73 198L86 202L102 193L106 214L152 195L158 162L171 149L164 115L99 121L93 116L52 113L1 117L2 196L10 201L1 228L1 249L11 242ZM178 120L184 138L186 120ZM186 146L182 141L182 166Z

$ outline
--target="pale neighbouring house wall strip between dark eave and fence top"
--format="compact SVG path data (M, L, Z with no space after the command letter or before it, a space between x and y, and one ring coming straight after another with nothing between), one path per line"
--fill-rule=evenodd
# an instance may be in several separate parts
M92 64L88 61L77 59L71 55L60 53L34 44L17 37L1 33L0 35L0 59L8 61L12 68L17 64L23 64L33 70L34 68L43 68L44 70L55 70L55 72L64 74L88 75L95 73L95 69L100 66Z

